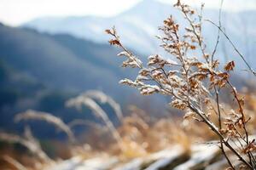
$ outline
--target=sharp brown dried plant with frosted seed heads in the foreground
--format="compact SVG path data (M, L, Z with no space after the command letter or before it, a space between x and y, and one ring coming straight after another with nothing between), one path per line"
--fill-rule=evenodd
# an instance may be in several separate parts
M241 167L255 169L253 154L256 143L255 139L249 139L247 131L250 118L245 113L243 96L230 81L230 71L234 70L235 62L230 61L223 69L220 68L218 59L214 57L218 42L213 52L207 53L201 32L203 5L199 12L179 0L174 6L188 23L185 33L180 33L180 26L172 16L164 20L164 26L159 28L163 35L158 39L160 47L169 55L150 55L147 65L143 65L141 59L124 47L114 27L106 30L113 37L109 43L123 50L118 54L125 58L122 66L139 70L136 80L125 78L120 83L137 88L143 95L157 93L170 96L172 107L185 111L185 117L192 117L212 130L230 169L235 169L235 162L231 162L228 155L230 152L237 157ZM222 31L220 26L218 28ZM253 71L251 67L249 70ZM230 96L236 102L233 110L222 110L220 96L224 89L230 90ZM217 117L217 122L213 115ZM234 144L239 145L235 147Z

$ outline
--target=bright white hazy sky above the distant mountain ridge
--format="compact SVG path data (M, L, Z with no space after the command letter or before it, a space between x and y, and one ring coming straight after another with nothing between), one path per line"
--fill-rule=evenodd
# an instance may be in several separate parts
M20 23L43 16L88 15L112 16L131 8L142 0L0 0L0 21L18 26ZM144 0L147 1L147 0ZM176 0L159 0L173 3ZM206 3L208 8L218 8L220 0L185 0ZM232 5L230 5L232 4ZM256 0L224 0L229 10L256 9Z

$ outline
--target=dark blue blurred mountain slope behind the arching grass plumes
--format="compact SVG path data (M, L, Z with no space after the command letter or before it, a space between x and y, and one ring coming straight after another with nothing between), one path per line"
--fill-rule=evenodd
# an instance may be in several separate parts
M109 45L0 25L0 48L0 128L22 131L14 115L30 108L65 122L93 119L65 108L67 99L88 89L103 90L121 103L131 95L131 88L118 83L131 72L119 68L118 51ZM49 128L36 127L44 137L55 136Z

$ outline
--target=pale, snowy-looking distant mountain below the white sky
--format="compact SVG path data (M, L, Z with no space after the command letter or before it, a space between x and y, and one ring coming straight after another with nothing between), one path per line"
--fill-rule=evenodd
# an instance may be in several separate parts
M171 5L160 3L156 0L144 0L132 7L128 11L110 18L96 16L85 17L48 17L39 18L25 23L22 27L34 28L41 32L68 33L75 37L89 39L94 42L107 42L108 36L104 30L116 26L122 41L126 46L141 52L142 54L159 53L161 50L158 41L154 38L159 35L158 26L172 14L182 27L187 24L183 20L183 15ZM204 18L218 23L218 10L205 9ZM247 60L256 64L253 57L255 51L255 23L256 11L228 12L223 11L222 22L226 33L235 42L241 53L247 56ZM212 51L218 30L207 21L204 22L203 34L208 44L208 50ZM218 56L223 61L235 59L241 68L241 59L234 53L229 42L221 37L218 48Z

